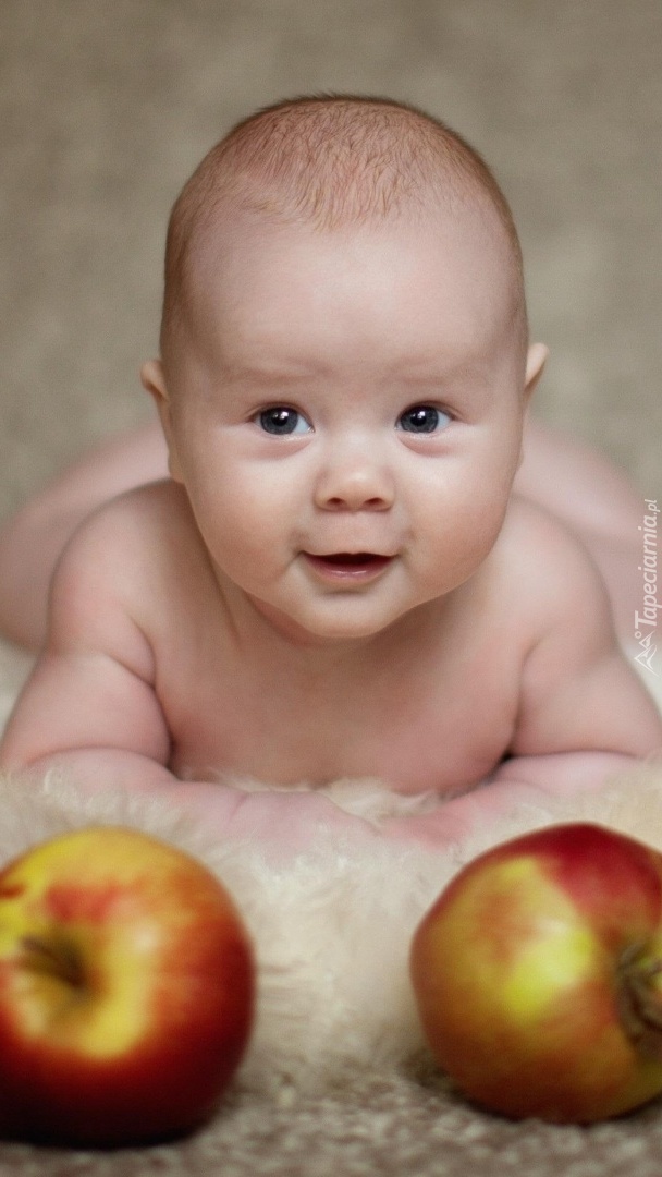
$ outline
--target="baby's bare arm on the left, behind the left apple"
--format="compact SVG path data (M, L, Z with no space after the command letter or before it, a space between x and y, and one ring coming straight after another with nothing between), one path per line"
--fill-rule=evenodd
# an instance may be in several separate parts
M0 767L25 784L55 771L83 792L172 798L207 829L259 839L276 856L320 827L374 837L326 797L243 793L169 771L170 734L152 645L131 606L132 560L121 559L118 519L121 527L121 508L92 519L59 564L48 639L7 725Z

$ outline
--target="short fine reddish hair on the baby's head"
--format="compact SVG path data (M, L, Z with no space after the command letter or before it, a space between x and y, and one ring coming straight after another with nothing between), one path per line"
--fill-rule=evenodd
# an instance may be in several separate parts
M482 157L440 119L387 98L319 94L286 99L242 119L203 158L168 224L161 351L181 321L194 246L225 210L321 231L450 211L492 207L504 232L514 317L526 346L522 252L513 214Z

